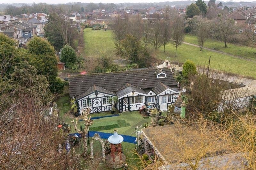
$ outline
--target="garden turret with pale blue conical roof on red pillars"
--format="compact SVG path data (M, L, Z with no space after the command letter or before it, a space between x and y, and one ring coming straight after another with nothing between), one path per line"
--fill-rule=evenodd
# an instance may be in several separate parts
M125 164L126 157L122 153L122 142L124 137L117 134L117 129L114 129L114 135L108 137L108 142L110 143L111 152L106 157L106 164L111 168L121 168Z

